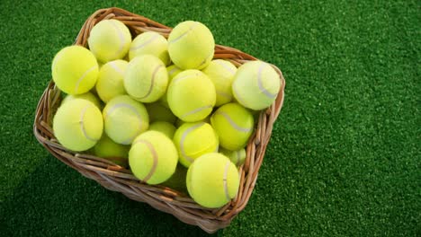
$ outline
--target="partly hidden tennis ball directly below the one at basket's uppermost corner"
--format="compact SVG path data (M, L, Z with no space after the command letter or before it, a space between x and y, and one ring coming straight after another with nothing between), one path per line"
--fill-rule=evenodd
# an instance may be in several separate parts
M126 94L123 79L128 64L127 61L119 59L101 67L95 88L102 101L108 102L118 95Z

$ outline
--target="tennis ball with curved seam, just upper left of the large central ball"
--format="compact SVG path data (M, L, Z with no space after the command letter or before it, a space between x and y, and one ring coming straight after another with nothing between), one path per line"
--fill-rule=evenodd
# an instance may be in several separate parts
M135 100L154 102L166 93L166 66L153 55L133 58L124 75L124 88Z

